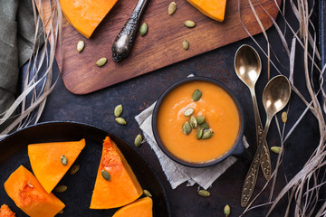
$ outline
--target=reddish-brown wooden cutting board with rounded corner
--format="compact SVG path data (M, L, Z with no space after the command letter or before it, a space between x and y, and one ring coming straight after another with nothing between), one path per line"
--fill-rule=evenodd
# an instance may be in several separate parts
M83 37L64 19L62 41L55 57L66 88L75 94L101 90L120 81L244 39L248 37L248 33L240 23L239 11L241 21L249 33L254 35L262 32L248 0L227 0L223 23L201 14L186 0L174 0L177 3L177 11L168 15L168 5L171 1L149 0L140 21L140 24L145 21L149 25L149 32L144 37L138 33L129 58L120 63L111 60L111 45L128 20L137 0L119 0L92 34L91 39ZM276 1L280 5L281 0ZM48 11L46 8L49 2L43 0L43 11ZM275 18L278 14L275 1L252 0L252 3L264 29L268 29L272 22L265 11ZM43 20L46 17L48 14L44 13ZM196 22L196 27L188 29L184 25L186 20ZM190 44L187 51L182 48L184 39ZM77 42L80 40L85 42L81 53L76 51ZM100 68L95 62L101 57L108 58L108 62Z

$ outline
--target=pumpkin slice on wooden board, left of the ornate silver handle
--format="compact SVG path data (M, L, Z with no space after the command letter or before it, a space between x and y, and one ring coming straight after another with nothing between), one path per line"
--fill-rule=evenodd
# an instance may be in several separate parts
M60 0L67 21L86 38L110 12L118 0Z

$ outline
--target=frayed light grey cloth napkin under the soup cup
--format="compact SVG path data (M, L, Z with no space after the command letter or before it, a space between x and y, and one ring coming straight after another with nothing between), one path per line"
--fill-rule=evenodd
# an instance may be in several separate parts
M225 172L227 168L235 163L236 157L230 156L222 163L206 168L187 167L171 160L159 148L153 135L151 120L155 104L156 102L153 103L148 109L143 110L138 116L135 117L135 119L139 123L139 127L143 131L144 137L149 143L149 146L151 146L155 154L158 156L158 161L162 166L165 175L167 175L168 182L171 184L172 189L177 188L179 184L183 184L186 181L188 182L187 185L189 186L199 184L202 188L207 189L220 175ZM243 142L247 148L249 144L247 143L245 137L243 137Z

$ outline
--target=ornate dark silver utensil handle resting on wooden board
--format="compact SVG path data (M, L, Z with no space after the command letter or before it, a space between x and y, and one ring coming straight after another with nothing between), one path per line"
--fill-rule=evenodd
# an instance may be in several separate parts
M129 52L135 42L139 26L139 18L143 13L145 5L149 0L139 0L126 24L123 25L120 33L112 44L112 60L122 61L129 56Z

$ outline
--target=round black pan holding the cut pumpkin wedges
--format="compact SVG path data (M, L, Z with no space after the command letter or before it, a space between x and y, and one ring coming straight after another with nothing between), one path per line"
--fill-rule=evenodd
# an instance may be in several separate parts
M119 146L129 165L137 176L143 189L149 190L153 195L153 214L157 217L170 216L168 200L157 176L149 164L139 154L110 133L98 127L92 127L75 122L48 122L26 127L14 132L0 141L0 201L6 203L16 212L16 216L27 216L5 193L4 183L19 165L24 165L32 172L27 156L27 146L32 143L76 141L86 139L86 146L75 164L81 169L75 175L68 172L59 184L68 186L65 193L53 193L65 203L63 214L69 217L109 217L118 209L90 210L91 193L95 184L98 166L101 159L102 140L110 138Z

